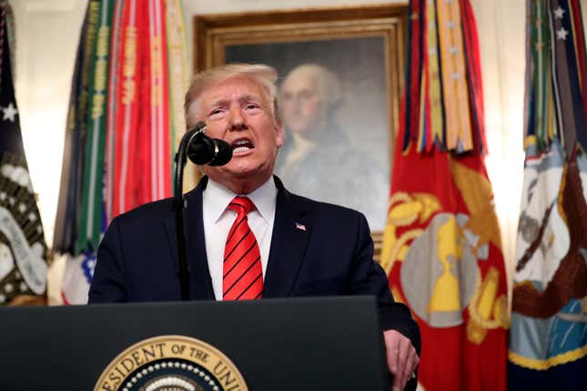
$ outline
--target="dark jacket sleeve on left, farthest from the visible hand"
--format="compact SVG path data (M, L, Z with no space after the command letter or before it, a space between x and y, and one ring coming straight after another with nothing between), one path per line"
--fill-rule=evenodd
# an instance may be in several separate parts
M96 269L88 293L88 304L126 302L127 292L120 240L120 224L115 218L98 246Z

